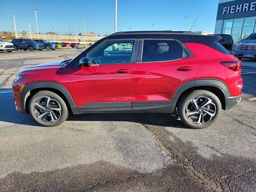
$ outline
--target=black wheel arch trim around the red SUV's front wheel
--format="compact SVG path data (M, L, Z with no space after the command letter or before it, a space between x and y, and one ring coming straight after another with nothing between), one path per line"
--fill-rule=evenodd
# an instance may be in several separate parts
M74 114L79 114L76 106L74 105L74 101L72 100L72 97L70 96L70 93L68 90L61 84L57 82L33 82L30 84L27 84L21 94L20 94L20 106L21 106L21 111L24 113L28 114L28 110L26 109L26 100L30 96L30 92L34 89L38 88L52 88L60 91L68 101L68 104Z

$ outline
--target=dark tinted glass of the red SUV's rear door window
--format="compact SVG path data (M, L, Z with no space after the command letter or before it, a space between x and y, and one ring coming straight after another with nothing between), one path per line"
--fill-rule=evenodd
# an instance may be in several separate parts
M181 59L184 51L175 40L144 40L142 62Z

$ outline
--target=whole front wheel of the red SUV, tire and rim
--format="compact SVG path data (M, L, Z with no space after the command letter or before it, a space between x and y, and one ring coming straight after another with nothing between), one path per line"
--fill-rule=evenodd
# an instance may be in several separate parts
M48 127L58 126L68 118L66 103L51 91L36 93L30 99L29 111L36 122Z

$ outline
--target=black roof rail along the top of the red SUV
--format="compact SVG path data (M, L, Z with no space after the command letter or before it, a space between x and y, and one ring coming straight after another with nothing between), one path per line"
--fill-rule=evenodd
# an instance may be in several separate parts
M131 34L180 34L180 35L198 35L189 31L125 31L125 32L116 32L110 34L109 36L115 35L131 35Z

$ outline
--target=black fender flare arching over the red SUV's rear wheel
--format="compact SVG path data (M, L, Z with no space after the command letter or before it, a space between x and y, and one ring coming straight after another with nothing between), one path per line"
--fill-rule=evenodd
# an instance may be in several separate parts
M189 88L198 87L198 86L213 86L213 87L219 88L223 92L225 100L230 98L230 91L228 89L228 86L221 80L198 79L198 80L191 80L191 81L185 82L184 84L179 86L172 97L173 104L176 106L178 99L180 98L183 92L185 92Z

